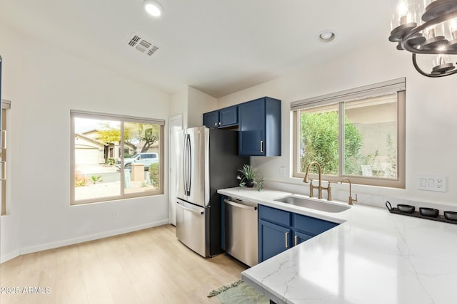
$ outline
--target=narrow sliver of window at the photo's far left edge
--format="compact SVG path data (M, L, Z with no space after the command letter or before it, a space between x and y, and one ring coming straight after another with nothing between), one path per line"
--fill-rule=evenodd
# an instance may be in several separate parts
M0 215L6 215L6 114L11 108L11 101L1 100L1 142L0 142Z

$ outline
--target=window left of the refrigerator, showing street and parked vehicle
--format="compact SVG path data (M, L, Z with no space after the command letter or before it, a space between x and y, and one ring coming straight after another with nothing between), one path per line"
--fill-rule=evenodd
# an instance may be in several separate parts
M71 204L163 194L164 123L72 110Z

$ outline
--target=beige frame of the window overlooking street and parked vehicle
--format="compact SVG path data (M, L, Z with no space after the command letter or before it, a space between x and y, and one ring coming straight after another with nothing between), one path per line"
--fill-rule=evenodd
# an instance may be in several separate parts
M159 125L159 189L156 191L148 192L135 192L126 194L124 193L125 181L124 181L124 172L121 170L121 180L120 180L120 194L114 196L103 196L97 197L95 199L79 199L76 200L75 197L75 123L74 118L89 118L89 119L99 119L99 120L116 120L121 122L121 138L124 138L124 124L126 122L134 123L145 123L151 125ZM76 206L81 204L90 204L90 203L99 203L103 201L117 201L120 199L132 199L136 197L144 196L156 196L164 194L164 127L165 120L152 119L145 117L134 117L126 115L116 115L116 114L106 114L100 112L87 112L80 110L70 110L70 205ZM121 145L119 146L120 151L124 151L124 140L121 140ZM125 153L125 151L124 151ZM124 167L124 153L120 154L121 157L121 167Z

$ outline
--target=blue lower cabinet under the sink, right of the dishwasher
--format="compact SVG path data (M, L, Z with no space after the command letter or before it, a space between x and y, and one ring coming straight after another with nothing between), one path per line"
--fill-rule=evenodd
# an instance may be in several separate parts
M258 206L258 262L313 238L338 224L268 206Z

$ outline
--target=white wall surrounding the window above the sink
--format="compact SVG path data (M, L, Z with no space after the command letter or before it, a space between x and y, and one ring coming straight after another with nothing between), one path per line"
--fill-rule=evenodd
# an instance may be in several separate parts
M251 157L251 162L266 177L266 187L308 194L308 184L290 177L291 102L406 77L406 189L368 186L353 189L359 200L373 200L373 204L380 206L386 197L457 206L457 140L453 135L457 130L457 76L432 79L420 75L413 68L411 54L396 51L387 38L346 53L335 47L335 52L338 56L333 61L303 67L283 78L219 98L218 108L265 95L282 100L282 156ZM279 176L280 167L286 167L286 177ZM447 192L416 189L418 174L445 175ZM347 200L347 188L347 185L335 185L333 198Z

